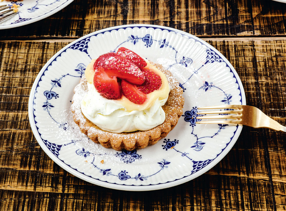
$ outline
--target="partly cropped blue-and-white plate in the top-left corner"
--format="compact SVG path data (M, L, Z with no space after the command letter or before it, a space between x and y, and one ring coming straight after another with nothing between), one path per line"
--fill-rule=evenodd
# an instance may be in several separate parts
M19 13L0 22L0 29L9 29L39 21L63 9L74 0L3 1L1 5L19 5Z

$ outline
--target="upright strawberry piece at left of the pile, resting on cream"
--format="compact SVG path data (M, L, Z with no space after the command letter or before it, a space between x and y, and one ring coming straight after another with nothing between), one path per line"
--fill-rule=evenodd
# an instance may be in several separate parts
M110 76L103 67L98 67L93 83L96 90L107 99L120 99L121 91L116 76Z

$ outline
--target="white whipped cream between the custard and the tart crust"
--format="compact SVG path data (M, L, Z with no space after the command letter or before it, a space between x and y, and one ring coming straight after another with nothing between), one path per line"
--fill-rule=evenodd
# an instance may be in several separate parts
M83 97L81 109L84 116L102 130L114 133L145 131L165 121L162 105L167 99L158 97L144 110L128 111L118 100L102 97L94 85L88 83L88 92Z

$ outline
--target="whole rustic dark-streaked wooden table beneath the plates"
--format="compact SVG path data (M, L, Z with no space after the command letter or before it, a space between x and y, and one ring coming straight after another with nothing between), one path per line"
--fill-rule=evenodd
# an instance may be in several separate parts
M286 4L270 0L81 1L46 19L0 31L0 211L285 210L286 136L244 127L233 149L200 177L168 189L128 192L63 170L40 148L28 99L43 65L86 34L122 24L188 32L234 66L248 105L286 125Z

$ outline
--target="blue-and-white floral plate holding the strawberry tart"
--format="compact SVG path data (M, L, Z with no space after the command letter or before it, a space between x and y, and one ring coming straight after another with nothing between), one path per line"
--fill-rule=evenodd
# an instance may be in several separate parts
M132 152L93 143L70 111L73 89L91 59L120 46L170 70L185 97L174 130L157 144ZM63 169L96 185L142 191L194 179L227 154L242 126L195 124L198 106L221 104L245 104L241 81L221 53L179 30L128 25L88 34L55 54L35 79L29 119L42 149Z

